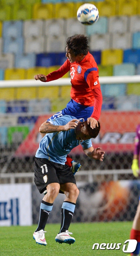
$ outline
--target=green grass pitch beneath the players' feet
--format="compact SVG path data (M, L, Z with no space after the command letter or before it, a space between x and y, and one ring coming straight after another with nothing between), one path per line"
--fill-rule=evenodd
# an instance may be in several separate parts
M45 238L47 245L38 245L33 240L37 225L30 227L0 227L1 256L121 256L124 241L129 239L132 222L72 223L69 232L73 233L73 245L55 242L59 224L47 224ZM94 243L121 243L120 250L92 250Z

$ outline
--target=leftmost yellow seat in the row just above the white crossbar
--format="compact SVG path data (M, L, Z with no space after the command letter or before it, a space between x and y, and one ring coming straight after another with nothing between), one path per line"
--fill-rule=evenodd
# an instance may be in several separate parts
M5 69L5 80L25 79L26 69L24 68L7 68Z

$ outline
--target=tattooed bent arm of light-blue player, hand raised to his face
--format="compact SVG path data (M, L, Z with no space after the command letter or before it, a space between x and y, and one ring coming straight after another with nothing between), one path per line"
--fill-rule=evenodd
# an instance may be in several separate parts
M50 124L49 121L45 121L39 127L39 132L46 134L46 133L62 132L62 131L68 131L70 129L75 129L75 127L77 126L76 121L78 121L78 119L72 119L65 125L53 125L53 124Z

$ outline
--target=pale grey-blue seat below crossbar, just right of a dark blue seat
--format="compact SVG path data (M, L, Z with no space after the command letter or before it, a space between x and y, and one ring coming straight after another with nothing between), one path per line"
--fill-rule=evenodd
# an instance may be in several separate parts
M46 114L51 111L51 102L49 99L34 99L29 101L28 112L34 114Z

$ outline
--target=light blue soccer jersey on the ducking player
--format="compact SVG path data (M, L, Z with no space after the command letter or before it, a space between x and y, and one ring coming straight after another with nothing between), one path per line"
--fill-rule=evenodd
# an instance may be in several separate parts
M63 116L50 120L50 123L54 125L65 125L72 119L76 118L73 116ZM76 139L75 129L47 133L39 143L36 157L47 158L52 162L65 164L67 154L79 144L81 144L84 149L92 146L91 139L80 143L80 141Z

